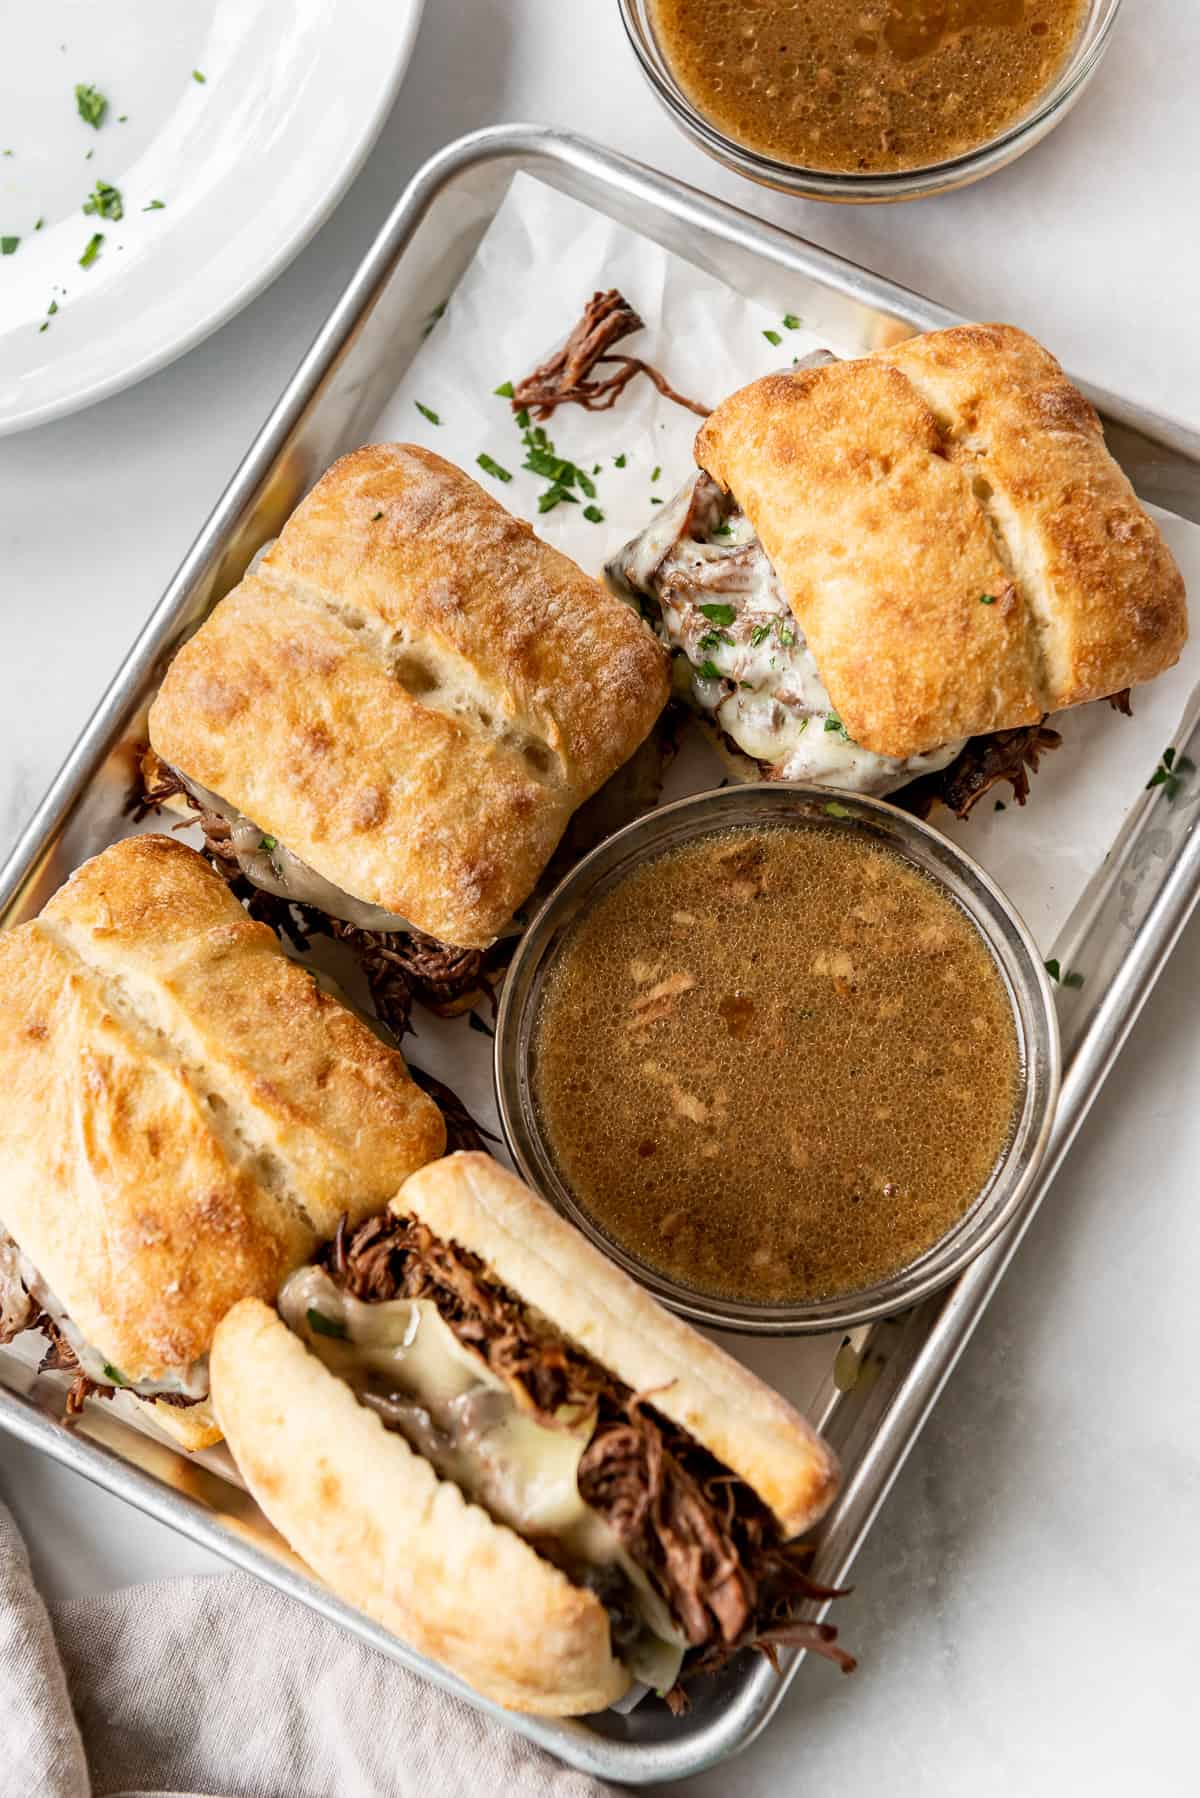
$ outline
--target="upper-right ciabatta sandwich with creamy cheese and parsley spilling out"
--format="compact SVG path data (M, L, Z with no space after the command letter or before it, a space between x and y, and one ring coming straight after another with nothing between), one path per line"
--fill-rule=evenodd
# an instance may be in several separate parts
M1054 358L961 325L770 374L610 565L743 779L921 782L966 813L1124 708L1187 636L1184 583Z

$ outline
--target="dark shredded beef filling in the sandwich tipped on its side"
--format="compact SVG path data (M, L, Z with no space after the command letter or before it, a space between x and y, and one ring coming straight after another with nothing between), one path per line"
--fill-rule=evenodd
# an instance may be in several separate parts
M745 1647L774 1660L783 1643L813 1649L846 1672L853 1669L853 1658L835 1645L833 1625L795 1618L802 1602L837 1597L808 1577L811 1550L781 1543L774 1516L745 1480L657 1411L653 1393L631 1392L536 1318L488 1275L477 1255L441 1241L416 1219L383 1214L353 1232L342 1219L322 1264L367 1304L434 1300L455 1336L516 1384L547 1428L561 1428L561 1406L596 1411L579 1462L579 1494L687 1634L684 1679L716 1672ZM619 1582L612 1591L599 1582L596 1591L619 1647L630 1629ZM667 1703L685 1706L680 1687Z

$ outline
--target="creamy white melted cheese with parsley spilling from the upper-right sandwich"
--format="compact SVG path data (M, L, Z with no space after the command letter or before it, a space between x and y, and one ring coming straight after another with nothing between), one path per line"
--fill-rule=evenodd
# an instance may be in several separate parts
M774 780L894 793L963 748L945 743L896 761L849 737L754 525L709 475L662 507L608 579L649 601L676 656L676 687Z

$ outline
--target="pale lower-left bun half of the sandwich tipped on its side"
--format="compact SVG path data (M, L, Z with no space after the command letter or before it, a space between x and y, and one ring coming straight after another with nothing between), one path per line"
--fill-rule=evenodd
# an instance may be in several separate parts
M509 1710L572 1717L628 1690L599 1598L439 1480L268 1305L225 1316L210 1377L254 1498L338 1597Z

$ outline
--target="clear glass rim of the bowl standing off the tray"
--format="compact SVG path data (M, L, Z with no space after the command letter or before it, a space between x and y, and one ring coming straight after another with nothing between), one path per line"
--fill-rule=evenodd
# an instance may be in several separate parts
M952 187L966 187L984 174L993 174L1006 164L1024 156L1047 131L1052 131L1060 119L1070 111L1085 86L1099 68L1108 49L1112 27L1115 23L1121 0L1088 0L1074 49L1058 76L1045 88L1033 106L997 137L986 138L973 149L963 151L946 162L927 164L916 169L894 169L883 174L869 173L833 173L828 169L806 169L790 162L777 162L757 149L748 149L738 138L729 137L718 124L707 119L691 102L675 77L675 70L658 43L653 25L653 0L621 0L621 18L642 74L666 106L680 129L711 156L723 162L727 169L761 182L765 187L777 187L784 194L801 194L804 200L840 200L840 201L878 201L878 200L919 200L925 194L941 194Z

